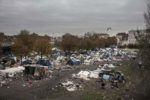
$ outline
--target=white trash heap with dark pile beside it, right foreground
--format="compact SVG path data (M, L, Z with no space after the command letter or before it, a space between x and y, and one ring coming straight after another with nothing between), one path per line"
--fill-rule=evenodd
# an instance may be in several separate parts
M91 79L98 79L102 88L110 84L111 88L118 88L119 83L125 83L124 74L116 69L113 64L104 64L99 66L96 70L81 70L77 74L72 74L73 78L83 79L89 81ZM108 88L108 87L107 87Z

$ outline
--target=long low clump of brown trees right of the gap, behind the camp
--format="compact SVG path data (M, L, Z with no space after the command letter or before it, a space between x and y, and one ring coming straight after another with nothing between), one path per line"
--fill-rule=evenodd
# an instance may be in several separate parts
M83 37L78 37L69 33L63 35L62 41L57 43L64 51L92 50L116 44L116 37L102 38L99 34L85 34Z

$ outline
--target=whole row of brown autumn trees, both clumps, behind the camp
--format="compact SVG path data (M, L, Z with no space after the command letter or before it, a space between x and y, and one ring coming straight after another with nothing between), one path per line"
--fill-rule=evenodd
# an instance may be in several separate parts
M8 36L4 33L0 35L3 40L8 39ZM57 46L63 51L76 51L104 48L117 44L116 37L102 38L99 34L85 34L83 37L78 37L66 33L62 36L62 40L59 42L55 41L54 45L51 44L51 37L30 33L28 30L21 30L19 34L10 37L10 41L14 43L12 45L12 52L19 57L28 56L31 53L37 53L41 57L43 55L49 55L53 46Z

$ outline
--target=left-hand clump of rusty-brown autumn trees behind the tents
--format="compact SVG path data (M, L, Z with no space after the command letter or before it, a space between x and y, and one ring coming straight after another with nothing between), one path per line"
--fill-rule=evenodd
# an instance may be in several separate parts
M0 35L2 35L0 44L4 42L13 42L11 47L12 53L18 57L29 56L31 53L35 52L41 55L41 57L51 53L51 38L47 35L40 36L36 33L30 33L28 30L21 30L18 35L9 36L11 40L8 40L8 36L4 33Z

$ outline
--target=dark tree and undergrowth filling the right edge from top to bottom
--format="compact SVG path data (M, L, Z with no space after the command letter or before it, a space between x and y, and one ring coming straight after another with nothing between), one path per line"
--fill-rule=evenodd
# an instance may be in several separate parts
M139 58L144 65L143 70L138 70L135 73L135 76L138 76L138 81L136 81L134 90L136 93L133 94L133 96L136 97L136 100L150 99L150 1L148 1L147 12L145 12L144 17L146 22L146 31L145 33L142 33L137 30L138 35L136 36L139 43Z

